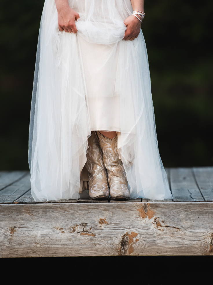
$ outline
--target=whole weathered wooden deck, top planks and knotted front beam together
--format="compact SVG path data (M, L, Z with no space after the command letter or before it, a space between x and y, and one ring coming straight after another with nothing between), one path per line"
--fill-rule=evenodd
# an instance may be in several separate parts
M0 257L213 255L213 167L166 169L173 200L34 202L0 172Z

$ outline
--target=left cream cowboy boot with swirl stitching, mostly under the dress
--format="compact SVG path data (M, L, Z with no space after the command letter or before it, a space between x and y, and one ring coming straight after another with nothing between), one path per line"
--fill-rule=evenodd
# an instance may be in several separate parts
M107 169L104 167L103 153L95 131L89 137L88 145L85 166L89 172L89 199L109 200Z

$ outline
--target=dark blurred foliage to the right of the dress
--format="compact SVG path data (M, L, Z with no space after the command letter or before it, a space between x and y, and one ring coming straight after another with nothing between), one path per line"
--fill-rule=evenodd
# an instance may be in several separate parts
M159 152L164 166L213 164L212 0L145 0Z

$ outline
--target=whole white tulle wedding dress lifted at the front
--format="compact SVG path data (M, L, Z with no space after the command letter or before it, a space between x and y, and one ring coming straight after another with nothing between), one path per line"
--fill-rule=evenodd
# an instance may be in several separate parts
M54 0L45 1L41 19L29 135L32 196L78 199L87 139L91 130L104 129L119 132L131 199L171 198L158 151L144 38L141 32L134 41L123 40L130 0L69 0L69 5L80 16L77 34L59 31Z

